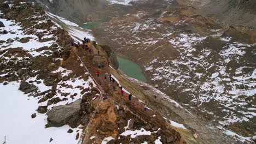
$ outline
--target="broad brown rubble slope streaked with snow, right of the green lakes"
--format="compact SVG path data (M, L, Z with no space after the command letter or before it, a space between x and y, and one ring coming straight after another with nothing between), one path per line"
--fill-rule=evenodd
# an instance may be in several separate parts
M246 136L255 127L255 38L176 2L120 15L94 32L141 65L150 84ZM168 7L164 7L168 3ZM143 7L141 4L140 7ZM151 8L151 7L150 7ZM245 128L251 130L246 130ZM253 130L252 130L253 129ZM248 134L249 133L249 134Z

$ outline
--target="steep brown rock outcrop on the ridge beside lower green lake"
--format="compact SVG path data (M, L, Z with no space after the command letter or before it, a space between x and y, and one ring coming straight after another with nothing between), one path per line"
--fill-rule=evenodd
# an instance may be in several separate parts
M117 70L119 68L119 63L117 60L117 56L115 55L115 52L111 49L111 47L107 45L101 45L102 49L106 51L108 57L109 57L109 62L112 65L112 67Z

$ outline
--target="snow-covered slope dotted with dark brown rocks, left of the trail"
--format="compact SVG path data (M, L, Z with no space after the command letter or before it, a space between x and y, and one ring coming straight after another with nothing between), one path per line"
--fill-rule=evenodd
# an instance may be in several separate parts
M63 59L59 52L65 49L71 38L62 33L60 25L53 23L46 14L62 21L65 27L71 26L69 32L73 38L93 37L83 29L77 30L78 25L72 22L50 13L44 14L33 3L5 3L23 11L18 16L15 16L16 9L4 9L0 13L4 17L0 19L4 24L0 27L1 142L5 136L7 143L49 143L50 139L51 143L77 143L83 128L68 125L45 128L48 122L46 113L36 111L39 106L48 106L46 110L51 110L54 106L70 104L82 99L83 94L90 93L90 89L96 86L91 77L74 76L72 68L67 70L60 66ZM24 6L30 10L28 14ZM4 31L7 33L3 34ZM80 61L74 62L82 65ZM59 75L59 80L56 81L54 75ZM29 87L25 89L21 83ZM69 129L73 133L67 133Z

